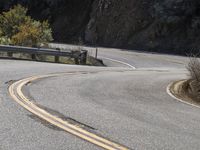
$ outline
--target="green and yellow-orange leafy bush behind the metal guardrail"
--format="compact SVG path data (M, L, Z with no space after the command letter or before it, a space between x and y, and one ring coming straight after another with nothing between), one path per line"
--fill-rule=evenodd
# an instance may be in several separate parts
M0 15L1 44L38 46L53 40L48 21L33 20L26 13L26 8L16 5Z

